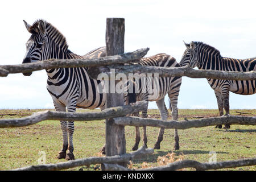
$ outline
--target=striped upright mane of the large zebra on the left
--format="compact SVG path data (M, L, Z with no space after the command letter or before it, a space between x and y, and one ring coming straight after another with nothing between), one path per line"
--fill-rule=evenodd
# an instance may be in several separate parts
M32 26L30 27L30 32L32 34L35 34L36 32L39 31L38 24L39 24L40 20L42 20L44 22L44 24L46 25L46 30L47 30L49 37L53 38L52 36L54 36L55 43L57 45L59 45L63 49L63 51L67 51L68 43L67 43L65 36L63 34L61 34L61 32L59 30L57 30L57 28L54 27L51 23L46 22L46 20L43 20L43 19L36 20L36 22L33 23ZM36 31L36 30L38 30L38 31Z

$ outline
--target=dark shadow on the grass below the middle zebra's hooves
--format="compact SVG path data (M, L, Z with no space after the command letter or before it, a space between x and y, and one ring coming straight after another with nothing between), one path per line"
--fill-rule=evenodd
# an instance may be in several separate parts
M172 153L172 151L154 151L154 154L142 156L139 159L133 160L133 163L142 163L147 161L148 163L155 163L158 161L159 156L167 155L168 153ZM203 151L203 150L179 150L174 151L176 156L179 155L188 155L188 154L209 154L209 151ZM217 154L228 154L228 152L216 152Z

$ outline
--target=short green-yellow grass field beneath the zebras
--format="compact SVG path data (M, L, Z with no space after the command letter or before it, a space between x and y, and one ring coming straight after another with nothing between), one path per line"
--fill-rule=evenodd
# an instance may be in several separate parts
M0 110L1 118L24 117L39 110ZM86 110L79 110L86 111ZM242 111L256 116L256 110L231 110L230 114L239 115ZM179 110L179 120L217 116L218 110ZM160 118L159 110L149 110L148 117ZM158 128L148 127L148 147L153 147ZM217 161L256 157L256 126L232 125L230 130L214 129L214 126L198 129L179 130L180 150L174 147L174 130L164 134L160 150L133 161L133 167L159 166L159 156L175 154L176 158L208 162L209 151L217 153ZM131 151L135 140L135 128L125 127L126 149ZM142 130L141 130L142 135ZM141 137L142 138L142 137ZM105 143L104 121L75 122L73 144L76 159L98 156ZM62 133L58 121L43 121L36 125L19 128L0 129L0 170L14 169L38 164L40 151L46 152L46 163L64 162L56 158L62 146ZM142 146L142 140L140 143ZM146 162L147 164L143 164ZM100 165L78 167L71 170L100 169ZM189 168L188 168L189 169ZM255 170L255 166L230 168L228 170ZM226 170L226 169L225 169Z

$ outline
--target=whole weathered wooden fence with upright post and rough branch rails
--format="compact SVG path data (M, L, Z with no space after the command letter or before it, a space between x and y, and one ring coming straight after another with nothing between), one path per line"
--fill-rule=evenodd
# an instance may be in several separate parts
M122 18L108 18L106 21L106 50L107 57L97 59L73 59L73 60L46 60L39 63L27 63L21 65L1 65L0 76L4 77L10 73L26 73L51 68L68 67L93 67L89 75L97 78L98 73L110 75L110 69L115 69L115 74L125 73L158 73L160 77L187 76L192 78L216 78L226 80L256 80L256 72L225 72L225 71L196 71L183 68L159 68L139 65L123 65L140 60L146 55L148 48L138 49L130 53L124 52L125 20ZM90 69L89 69L90 70ZM18 168L15 170L60 170L90 164L102 164L105 170L130 170L126 164L130 160L141 155L152 154L152 148L141 147L135 152L126 154L125 126L152 126L166 129L189 129L191 127L207 127L212 125L256 125L256 117L244 117L228 115L224 117L213 117L186 121L161 121L159 119L126 117L127 114L142 111L146 102L123 105L123 94L108 93L106 96L106 108L101 112L86 113L65 113L55 111L43 111L29 117L15 119L0 119L0 128L22 127L34 125L44 120L65 120L65 121L93 121L106 119L106 156L76 159L57 164L42 164ZM195 168L197 170L231 168L240 166L254 166L256 158L241 159L210 163L199 163L195 160L182 160L170 163L167 166L148 168L146 170L176 170L181 168Z

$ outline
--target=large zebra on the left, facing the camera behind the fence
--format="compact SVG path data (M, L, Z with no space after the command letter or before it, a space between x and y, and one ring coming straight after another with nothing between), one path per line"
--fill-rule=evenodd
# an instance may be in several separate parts
M23 20L24 21L24 20ZM102 57L106 55L105 47L95 49L84 56L69 51L65 37L50 23L37 20L32 26L24 21L31 33L26 43L27 52L23 63L47 59L82 59ZM58 68L47 69L47 90L52 96L57 111L75 112L76 108L104 109L105 94L99 93L97 86L101 81L93 80L88 76L88 68ZM23 73L30 76L31 73ZM58 159L75 159L73 155L74 123L60 121L63 132L63 148L57 156ZM68 150L67 154L66 151Z

